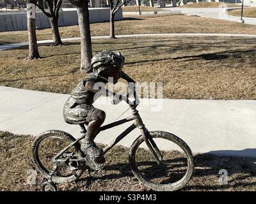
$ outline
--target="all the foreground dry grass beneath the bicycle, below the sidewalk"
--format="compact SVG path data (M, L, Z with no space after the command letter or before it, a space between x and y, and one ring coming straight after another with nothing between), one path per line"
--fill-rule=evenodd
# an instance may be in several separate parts
M42 175L36 185L26 185L28 171L35 169L31 159L34 138L0 131L0 191L40 191ZM129 149L117 146L106 154L104 170L87 170L73 184L58 185L61 191L148 191L132 175L128 163ZM173 161L179 160L179 154ZM140 156L140 154L139 154ZM143 157L145 154L143 154ZM178 157L175 157L178 156ZM141 157L142 158L142 157ZM255 191L255 159L209 154L194 154L195 173L182 191ZM174 165L175 166L175 165ZM228 184L220 185L221 169L228 171Z

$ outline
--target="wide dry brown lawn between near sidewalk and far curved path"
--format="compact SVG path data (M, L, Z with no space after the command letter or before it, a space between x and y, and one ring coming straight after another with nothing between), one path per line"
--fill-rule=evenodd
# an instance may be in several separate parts
M137 82L163 82L164 98L256 99L255 38L173 37L93 40L93 51L125 55L124 71ZM69 94L83 78L80 45L0 52L0 85Z

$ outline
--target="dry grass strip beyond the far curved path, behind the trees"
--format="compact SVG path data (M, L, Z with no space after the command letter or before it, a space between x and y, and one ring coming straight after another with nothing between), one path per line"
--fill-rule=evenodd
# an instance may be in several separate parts
M117 21L116 34L138 33L241 33L256 34L256 26L212 18L173 16L130 16ZM92 36L109 34L109 23L91 24ZM51 39L51 29L36 31L38 40ZM80 36L77 25L60 27L61 38ZM0 33L0 45L28 41L27 31Z

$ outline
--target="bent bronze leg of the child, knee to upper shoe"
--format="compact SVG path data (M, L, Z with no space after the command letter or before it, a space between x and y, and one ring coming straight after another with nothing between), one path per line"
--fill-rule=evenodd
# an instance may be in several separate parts
M106 118L106 113L103 110L94 109L91 115L88 116L87 133L84 138L82 150L87 154L100 154L100 150L94 145L95 133L98 131Z

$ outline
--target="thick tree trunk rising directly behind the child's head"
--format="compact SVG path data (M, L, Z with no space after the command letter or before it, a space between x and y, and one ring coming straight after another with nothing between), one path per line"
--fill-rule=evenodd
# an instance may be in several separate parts
M92 60L92 40L89 21L88 1L81 1L77 7L77 15L81 36L81 66L80 71L86 72L90 68Z

